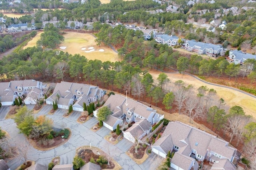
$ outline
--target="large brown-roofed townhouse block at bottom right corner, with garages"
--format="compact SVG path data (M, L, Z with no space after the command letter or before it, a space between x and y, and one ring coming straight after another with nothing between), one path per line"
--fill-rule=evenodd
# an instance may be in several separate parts
M196 170L196 160L209 161L211 170L235 170L241 155L227 141L178 121L170 122L152 145L152 152L164 158L169 151L175 152L170 161L175 170Z

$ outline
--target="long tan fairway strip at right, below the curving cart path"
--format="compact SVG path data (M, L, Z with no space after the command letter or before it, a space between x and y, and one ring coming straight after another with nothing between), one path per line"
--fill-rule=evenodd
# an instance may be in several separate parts
M154 77L154 79L158 77L159 73L161 72L155 71L155 70L150 71L150 74ZM168 75L169 79L172 82L175 82L177 80L182 80L187 84L193 85L195 89L197 89L200 86L207 86L210 89L215 89L217 91L218 97L224 99L226 105L230 107L234 105L241 106L246 112L246 115L252 115L256 119L256 99L255 98L245 95L239 91L206 84L204 82L201 82L195 79L190 75L183 75L179 73L166 73L166 74Z

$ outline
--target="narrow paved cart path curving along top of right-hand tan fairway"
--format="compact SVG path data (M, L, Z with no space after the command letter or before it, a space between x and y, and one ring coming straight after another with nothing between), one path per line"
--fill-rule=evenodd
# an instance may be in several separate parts
M161 69L157 69L157 70L158 70L158 71L162 71L162 72L164 72L164 73L180 74L180 73L178 72L178 70L176 70L176 69L172 69L172 70L177 71L177 72L168 72L168 71L164 71L164 70L161 70ZM182 73L183 73L183 72L182 72ZM202 81L203 83L206 83L206 84L208 84L208 85L214 85L214 86L218 86L218 87L224 87L224 88L227 88L227 89L232 89L232 90L241 92L241 93L243 93L243 94L245 94L245 95L248 95L248 96L253 97L253 98L256 99L256 96L254 96L254 95L252 95L252 94L250 94L250 93L247 93L247 92L245 92L245 91L236 89L236 88L234 88L234 87L229 87L229 86L225 86L225 85L218 85L218 84L215 84L215 83L210 83L210 82L204 81L204 80L202 80L202 79L200 79L200 78L198 78L198 77L196 77L195 75L192 75L192 74L190 74L190 73L186 73L186 72L185 72L184 74L190 75L190 76L194 77L195 79L197 79L197 80L199 80L199 81Z

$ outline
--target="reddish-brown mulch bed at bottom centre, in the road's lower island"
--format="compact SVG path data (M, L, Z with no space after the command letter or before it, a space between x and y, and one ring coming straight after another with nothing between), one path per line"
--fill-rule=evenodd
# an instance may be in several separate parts
M78 156L80 158L82 158L86 163L90 162L90 159L91 158L94 158L95 160L95 164L98 164L96 162L96 160L99 158L100 155L97 155L97 154L94 154L94 152L92 152L92 150L90 149L81 149L79 150L79 152L77 153ZM99 164L98 164L99 165ZM109 162L109 165L108 164L103 164L101 166L102 169L114 169L115 165L113 162Z

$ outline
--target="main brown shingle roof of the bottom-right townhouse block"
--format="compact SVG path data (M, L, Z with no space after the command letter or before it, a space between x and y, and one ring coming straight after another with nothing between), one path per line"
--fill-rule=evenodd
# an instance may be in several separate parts
M178 152L186 156L190 154L192 149L202 156L208 150L212 150L228 159L231 159L236 153L236 148L228 146L227 141L178 121L169 122L161 138L152 147L159 146L166 153L173 145L180 147L181 149ZM166 141L168 141L170 146Z

